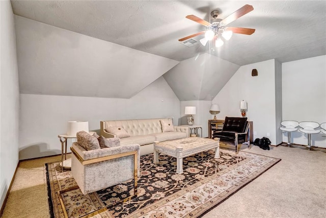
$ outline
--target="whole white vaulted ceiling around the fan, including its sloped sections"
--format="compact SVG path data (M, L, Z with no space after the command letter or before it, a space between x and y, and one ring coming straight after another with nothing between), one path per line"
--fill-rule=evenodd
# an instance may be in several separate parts
M180 100L207 100L208 96L214 96L219 92L219 88L216 87L221 89L241 65L274 58L280 62L287 62L326 54L326 1L11 1L11 3L13 12L17 15L17 51L22 53L18 54L22 93L130 98L164 75ZM256 29L253 35L233 34L222 47L214 50L210 49L209 45L203 46L200 43L192 47L179 43L179 38L205 30L199 23L186 19L186 15L194 14L209 21L209 14L213 9L220 10L219 17L225 18L245 4L252 5L254 11L233 21L230 26ZM42 33L45 40L41 39L42 34L38 40L33 39L35 36L33 30L28 30L30 26L24 27L31 21L25 18L38 21L31 24L39 26L35 31L48 29ZM53 32L53 28L43 23L56 27L56 31ZM89 38L74 36L78 41L72 41L70 36L67 36L69 35L67 31L58 28ZM58 32L62 32L62 35L56 36ZM24 38L26 33L29 35ZM30 44L29 37L32 40ZM51 52L46 50L46 44L51 43L53 37L54 43L69 38L70 49L65 49L67 44L59 43L58 51L51 55ZM194 39L199 40L202 37L197 36ZM88 42L93 41L90 38L99 39L101 42L99 40L92 42L95 45L90 48ZM77 46L77 50L74 46ZM44 51L40 52L42 47ZM108 47L111 49L115 47L115 52L120 50L121 52L112 54ZM58 55L60 49L65 51L62 56ZM95 60L96 50L105 57L97 57ZM29 54L23 54L23 51L28 51ZM29 57L31 51L32 57ZM75 56L83 54L83 51L87 54L80 56L76 61ZM214 57L208 58L207 55ZM197 70L187 70L188 78L184 80L182 75L189 67L188 64L199 63L195 61L198 58L206 60L207 63L212 60L216 62L201 68L194 66L192 69ZM89 61L90 59L93 60ZM122 59L124 61L121 61ZM84 64L78 65L80 62ZM97 83L97 86L90 86L84 91L78 90L78 87L85 87L85 84L90 82L88 75L90 70L92 77L97 78L91 82ZM151 74L148 74L148 71ZM45 72L48 74L44 74ZM219 74L220 72L226 75ZM215 76L212 76L214 74ZM74 83L63 82L72 79ZM35 80L39 85L33 83ZM138 85L135 85L135 82ZM114 92L113 90L117 90L117 83L124 88L128 87L129 90ZM112 89L107 88L107 84ZM184 84L182 90L179 90L180 87L176 84ZM197 92L194 93L194 90Z

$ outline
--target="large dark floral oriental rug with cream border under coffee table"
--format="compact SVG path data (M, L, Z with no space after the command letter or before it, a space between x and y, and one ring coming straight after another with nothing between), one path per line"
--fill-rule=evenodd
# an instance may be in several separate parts
M206 151L183 159L183 173L176 173L176 158L153 154L141 156L138 196L133 183L125 183L83 195L69 170L59 162L46 163L50 217L200 217L253 181L280 159L234 150ZM117 169L119 170L119 169ZM61 205L58 190L62 192ZM65 208L65 211L64 209Z

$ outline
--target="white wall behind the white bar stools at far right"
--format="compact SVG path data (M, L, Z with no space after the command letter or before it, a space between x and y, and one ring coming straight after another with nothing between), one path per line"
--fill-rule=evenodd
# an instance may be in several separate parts
M326 122L326 56L282 64L283 120ZM301 132L291 134L293 143L308 144ZM287 141L287 134L283 134ZM326 148L321 134L311 136L312 146Z

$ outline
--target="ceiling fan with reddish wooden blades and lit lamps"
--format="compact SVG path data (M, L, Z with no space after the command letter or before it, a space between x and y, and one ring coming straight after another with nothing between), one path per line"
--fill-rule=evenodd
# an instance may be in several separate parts
M241 27L226 27L226 25L228 25L230 22L238 19L239 17L253 10L254 10L253 6L244 5L243 7L239 8L238 10L236 10L235 12L233 12L231 15L227 16L224 19L217 18L220 14L219 10L213 10L210 13L210 15L213 17L212 23L207 22L206 20L203 20L195 15L188 15L186 16L186 18L198 22L201 25L204 25L206 27L206 31L202 31L190 36L186 36L184 38L179 39L179 41L184 41L193 38L195 36L205 34L205 37L199 40L202 45L205 46L208 41L212 41L213 45L215 45L216 47L220 47L224 44L223 40L220 37L221 35L226 40L229 40L232 37L232 33L251 35L255 32L255 29L241 28Z

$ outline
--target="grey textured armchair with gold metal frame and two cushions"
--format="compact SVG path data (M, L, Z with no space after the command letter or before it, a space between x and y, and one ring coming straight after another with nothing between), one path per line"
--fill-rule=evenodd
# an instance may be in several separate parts
M84 195L133 179L137 196L140 145L121 146L119 138L97 139L86 132L78 133L71 147L71 172ZM103 146L97 145L97 140L104 140Z

